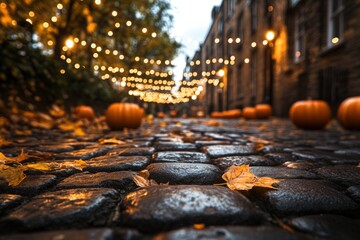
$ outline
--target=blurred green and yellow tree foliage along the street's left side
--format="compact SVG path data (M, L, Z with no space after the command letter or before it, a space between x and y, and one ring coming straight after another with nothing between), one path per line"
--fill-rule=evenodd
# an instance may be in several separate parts
M18 104L39 106L53 102L65 106L105 105L125 95L124 91L114 90L111 81L101 80L105 74L109 74L108 79L119 79L129 76L131 68L141 71L169 68L135 61L135 57L165 61L177 54L180 44L167 33L172 22L168 0L100 2L98 5L94 0L3 1L6 7L2 5L0 9L0 90L4 102L12 99ZM128 21L131 26L126 25ZM79 41L65 51L63 47L69 37ZM92 48L92 43L102 51ZM105 49L118 54L106 53ZM119 58L120 54L124 59ZM66 63L65 58L70 58L71 63ZM75 68L75 63L81 67ZM94 71L94 66L104 66L105 70ZM114 73L109 67L125 71ZM62 69L65 74L60 73Z

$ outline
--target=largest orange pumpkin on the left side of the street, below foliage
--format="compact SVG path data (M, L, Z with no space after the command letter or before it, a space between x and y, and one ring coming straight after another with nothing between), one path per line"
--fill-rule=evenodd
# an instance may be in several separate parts
M112 130L138 128L144 116L144 109L134 103L113 103L106 112L106 123Z

